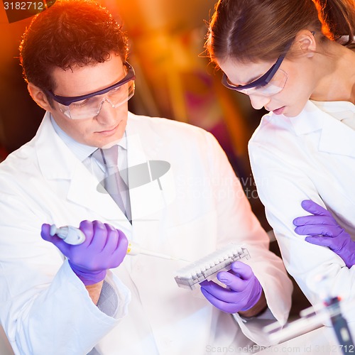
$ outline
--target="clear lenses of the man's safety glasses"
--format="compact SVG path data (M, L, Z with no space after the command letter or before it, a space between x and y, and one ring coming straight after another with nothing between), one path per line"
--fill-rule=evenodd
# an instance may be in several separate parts
M134 80L131 80L120 87L111 89L106 94L90 97L80 102L73 102L69 106L59 104L60 110L70 119L92 119L99 114L105 101L109 102L114 108L129 101L133 97L134 88Z

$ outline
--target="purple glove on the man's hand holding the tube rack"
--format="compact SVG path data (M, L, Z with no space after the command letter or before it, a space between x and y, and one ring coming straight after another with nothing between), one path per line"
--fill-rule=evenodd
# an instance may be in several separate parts
M227 313L250 310L263 293L263 288L251 267L241 261L231 263L231 270L221 271L217 278L227 288L204 280L200 283L201 292L214 307Z

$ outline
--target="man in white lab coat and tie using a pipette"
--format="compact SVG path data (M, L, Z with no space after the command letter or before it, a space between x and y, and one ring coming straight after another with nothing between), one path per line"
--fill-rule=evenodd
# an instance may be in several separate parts
M0 165L0 317L16 354L265 344L263 324L290 309L283 264L211 134L129 113L134 72L116 21L97 4L57 1L33 19L20 58L46 114ZM121 205L107 193L111 147L129 185ZM65 243L51 224L80 227L84 243ZM202 283L208 302L175 283L185 261L126 256L128 240L190 261L234 241L251 259L219 275L229 288Z

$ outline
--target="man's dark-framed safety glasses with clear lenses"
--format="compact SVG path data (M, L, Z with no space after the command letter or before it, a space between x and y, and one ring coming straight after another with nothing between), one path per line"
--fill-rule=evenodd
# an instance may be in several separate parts
M116 84L97 92L77 97L59 96L48 90L45 93L58 102L60 111L70 119L91 119L99 114L105 101L116 108L133 97L136 75L129 62L124 62L124 65L127 75Z

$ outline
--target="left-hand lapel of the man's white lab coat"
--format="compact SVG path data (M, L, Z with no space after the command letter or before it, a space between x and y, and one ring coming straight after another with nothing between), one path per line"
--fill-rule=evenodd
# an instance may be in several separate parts
M104 219L118 220L126 229L131 224L111 196L98 190L97 180L55 133L45 114L35 137L40 170L48 180L67 183L67 199L90 209Z

